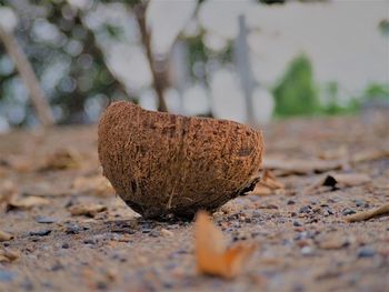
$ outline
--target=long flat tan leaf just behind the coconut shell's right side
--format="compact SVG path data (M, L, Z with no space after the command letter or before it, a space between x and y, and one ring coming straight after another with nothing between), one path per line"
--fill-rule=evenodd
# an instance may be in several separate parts
M343 164L343 161L338 160L299 160L280 158L265 158L262 163L265 169L279 170L283 175L307 174L311 172L321 173L329 170L341 169Z

